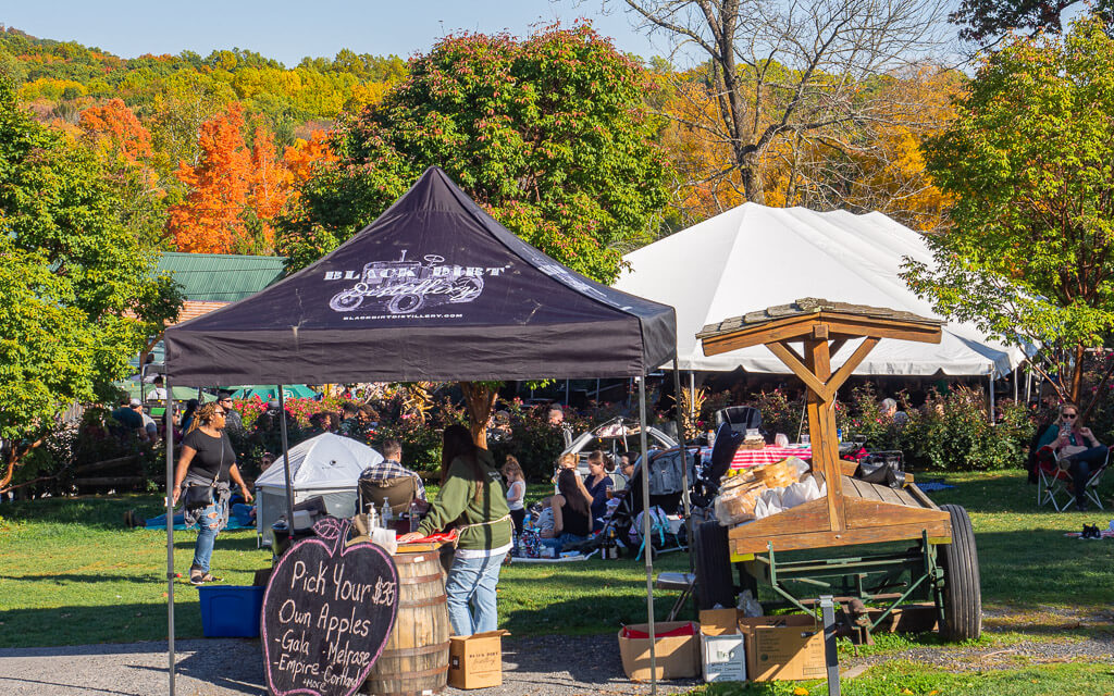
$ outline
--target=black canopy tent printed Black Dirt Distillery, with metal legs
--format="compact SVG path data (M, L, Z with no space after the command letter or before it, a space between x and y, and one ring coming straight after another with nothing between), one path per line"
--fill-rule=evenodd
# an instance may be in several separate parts
M431 167L333 253L251 297L169 327L165 343L167 383L192 386L639 378L645 461L642 378L675 361L676 325L673 307L596 283L526 244ZM285 419L280 422L286 450ZM172 452L168 442L168 480ZM648 498L648 467L642 469ZM651 630L652 582L647 553Z

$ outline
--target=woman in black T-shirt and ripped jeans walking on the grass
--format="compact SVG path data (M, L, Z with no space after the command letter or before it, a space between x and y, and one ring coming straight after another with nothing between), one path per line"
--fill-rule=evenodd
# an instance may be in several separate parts
M216 535L228 523L229 480L252 501L252 492L236 468L236 452L224 432L224 406L209 402L197 409L194 421L182 439L182 454L174 474L174 502L192 486L214 487L213 502L201 507L186 507L186 525L197 525L194 562L189 566L193 585L212 582L219 578L209 572L209 559Z

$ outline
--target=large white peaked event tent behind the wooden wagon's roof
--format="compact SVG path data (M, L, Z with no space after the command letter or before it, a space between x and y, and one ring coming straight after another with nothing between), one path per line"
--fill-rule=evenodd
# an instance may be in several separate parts
M798 297L827 297L944 318L898 277L905 257L932 264L924 238L881 213L817 213L745 203L624 256L631 264L615 283L626 293L673 305L682 370L786 373L756 345L706 356L696 333L706 324ZM842 363L858 345L833 356ZM856 374L997 375L1025 354L986 340L971 324L944 326L940 344L882 341Z

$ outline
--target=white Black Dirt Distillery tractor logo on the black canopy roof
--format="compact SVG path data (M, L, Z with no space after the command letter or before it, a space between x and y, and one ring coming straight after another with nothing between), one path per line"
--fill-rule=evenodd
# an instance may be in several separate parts
M442 304L471 302L483 292L485 274L499 275L504 271L446 264L438 254L422 258L426 263L407 261L403 249L399 261L373 261L364 265L355 286L333 295L329 306L336 312L352 312L367 303L391 314L412 314ZM325 280L353 275L326 272Z

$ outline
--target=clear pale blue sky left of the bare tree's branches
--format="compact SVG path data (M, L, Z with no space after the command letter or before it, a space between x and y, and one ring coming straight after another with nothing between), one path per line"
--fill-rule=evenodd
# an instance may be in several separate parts
M333 57L342 48L358 53L408 58L459 30L508 30L527 36L531 27L576 18L593 20L619 50L648 58L666 55L633 28L634 20L613 2L600 0L8 0L0 23L40 38L96 46L123 58L143 53L202 56L214 49L243 48L287 66L304 56Z

